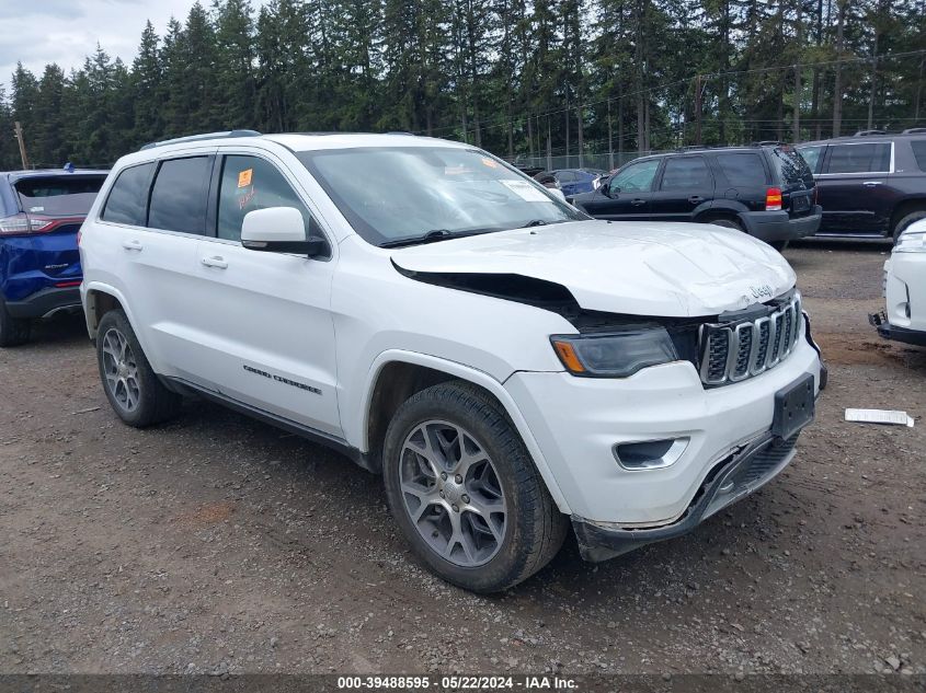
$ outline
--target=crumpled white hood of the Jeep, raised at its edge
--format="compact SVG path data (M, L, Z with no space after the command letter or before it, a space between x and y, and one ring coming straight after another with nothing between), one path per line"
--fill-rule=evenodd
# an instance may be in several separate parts
M402 269L522 275L567 287L586 310L700 316L794 286L790 265L741 231L701 223L575 221L392 251Z

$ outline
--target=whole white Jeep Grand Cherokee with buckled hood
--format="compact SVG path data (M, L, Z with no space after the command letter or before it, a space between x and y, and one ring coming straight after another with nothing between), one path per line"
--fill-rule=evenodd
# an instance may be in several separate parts
M151 145L80 249L125 423L196 394L333 446L477 591L540 569L570 525L590 561L691 530L788 464L825 382L770 246L595 221L461 143Z

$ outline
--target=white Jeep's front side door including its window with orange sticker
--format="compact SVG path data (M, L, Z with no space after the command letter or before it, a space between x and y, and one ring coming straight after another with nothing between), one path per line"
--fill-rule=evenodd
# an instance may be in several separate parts
M331 278L335 261L264 253L240 243L244 215L294 207L323 235L282 162L229 154L218 169L215 238L196 251L203 315L199 384L235 401L341 436Z

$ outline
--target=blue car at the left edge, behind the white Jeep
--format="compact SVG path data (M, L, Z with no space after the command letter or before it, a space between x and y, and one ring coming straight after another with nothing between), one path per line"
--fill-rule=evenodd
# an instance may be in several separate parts
M77 236L106 173L0 173L0 347L26 342L35 319L80 310Z

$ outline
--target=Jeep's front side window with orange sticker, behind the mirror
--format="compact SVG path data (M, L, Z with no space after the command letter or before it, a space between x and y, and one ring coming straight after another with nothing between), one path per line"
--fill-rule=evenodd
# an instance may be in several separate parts
M240 241L244 215L267 207L295 207L302 215L307 234L319 235L311 213L273 164L258 157L226 157L219 187L218 238Z

